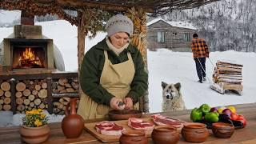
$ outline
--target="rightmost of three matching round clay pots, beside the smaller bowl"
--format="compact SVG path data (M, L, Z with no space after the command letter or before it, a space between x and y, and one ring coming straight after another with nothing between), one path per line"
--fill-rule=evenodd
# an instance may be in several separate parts
M204 123L186 123L182 128L182 137L187 142L205 142L208 136L209 131Z

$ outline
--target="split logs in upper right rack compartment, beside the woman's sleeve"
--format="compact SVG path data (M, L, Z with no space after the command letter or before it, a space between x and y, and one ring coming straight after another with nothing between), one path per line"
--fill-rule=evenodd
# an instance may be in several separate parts
M58 81L52 83L53 93L78 93L78 78L59 78Z

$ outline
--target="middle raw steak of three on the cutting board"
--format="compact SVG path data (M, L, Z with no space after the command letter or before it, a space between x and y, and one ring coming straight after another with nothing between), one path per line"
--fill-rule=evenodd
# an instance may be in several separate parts
M150 122L143 122L141 118L129 118L128 126L135 130L153 130L154 124Z

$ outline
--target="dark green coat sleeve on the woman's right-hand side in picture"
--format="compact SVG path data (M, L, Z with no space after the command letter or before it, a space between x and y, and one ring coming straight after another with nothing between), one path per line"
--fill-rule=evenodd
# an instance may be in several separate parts
M145 94L148 88L148 74L145 70L142 54L138 51L138 49L136 50L133 60L135 74L134 79L130 84L130 92L126 97L132 98L134 103L136 103L138 102L138 98Z

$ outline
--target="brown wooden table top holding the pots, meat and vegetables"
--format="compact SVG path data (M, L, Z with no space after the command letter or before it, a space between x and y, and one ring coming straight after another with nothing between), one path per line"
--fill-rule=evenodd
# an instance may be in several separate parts
M256 103L236 105L238 114L243 114L247 119L247 126L240 130L235 130L231 138L215 138L210 131L210 137L207 138L204 143L256 143ZM183 110L177 112L162 113L163 115L168 115L172 118L179 118L190 122L190 110ZM147 118L150 114L144 114L142 117ZM90 120L86 122L98 122L101 119ZM102 143L94 138L91 134L83 130L83 134L79 138L66 139L62 133L61 122L50 123L50 138L46 141L46 144L62 144L62 143ZM22 143L20 141L19 126L4 127L0 128L0 143ZM119 142L111 142L119 143ZM149 143L153 143L152 139L149 138ZM182 136L178 143L188 143L185 142Z

